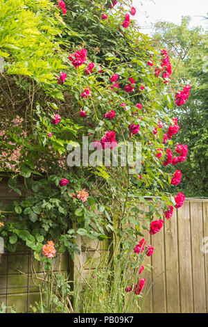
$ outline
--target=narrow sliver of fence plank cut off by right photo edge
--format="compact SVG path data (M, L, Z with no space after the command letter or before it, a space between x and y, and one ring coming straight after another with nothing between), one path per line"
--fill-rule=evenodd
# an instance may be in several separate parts
M206 292L206 303L208 312L208 202L202 203L202 214L203 214L203 253L205 257L205 292Z

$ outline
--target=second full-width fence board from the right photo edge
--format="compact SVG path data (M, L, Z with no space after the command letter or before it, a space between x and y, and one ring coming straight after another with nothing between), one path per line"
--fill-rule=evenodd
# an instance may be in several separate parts
M180 271L180 303L182 313L193 313L193 280L191 267L191 221L189 201L177 209Z

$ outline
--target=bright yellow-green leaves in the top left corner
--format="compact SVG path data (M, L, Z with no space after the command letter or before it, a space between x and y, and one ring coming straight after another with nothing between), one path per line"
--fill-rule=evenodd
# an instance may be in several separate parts
M7 59L7 74L53 81L53 72L65 67L55 41L62 32L58 17L50 1L0 1L0 56Z

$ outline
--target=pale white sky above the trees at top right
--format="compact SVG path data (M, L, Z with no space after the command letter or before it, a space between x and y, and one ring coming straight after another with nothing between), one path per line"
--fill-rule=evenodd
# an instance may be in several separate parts
M150 33L151 24L164 20L180 24L182 16L191 16L192 26L202 26L208 29L208 20L201 16L208 13L208 0L144 0L143 6L139 0L133 0L133 5L137 8L135 19L142 26L142 33ZM144 26L148 26L144 28Z

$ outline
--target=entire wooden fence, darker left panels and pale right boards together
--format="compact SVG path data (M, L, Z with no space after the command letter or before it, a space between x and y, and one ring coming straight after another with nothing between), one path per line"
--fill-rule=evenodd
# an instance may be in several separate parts
M6 206L17 200L17 194L0 183L0 202ZM138 203L140 209L144 207ZM146 291L143 312L207 312L208 309L208 200L187 199L182 208L174 211L164 228L151 236L144 233L146 244L155 247L147 263L153 272L144 271ZM207 239L206 239L207 237ZM78 237L81 255L73 265L66 255L58 264L60 271L67 271L71 277L85 264L87 257L99 256L107 250L106 242L94 242ZM207 242L207 245L206 245ZM69 266L70 264L70 266ZM24 274L18 272L21 270ZM36 263L37 273L42 271ZM151 287L152 286L152 287ZM30 253L19 249L15 254L3 255L0 264L0 307L16 305L17 312L29 311L30 304L39 297L31 271Z

